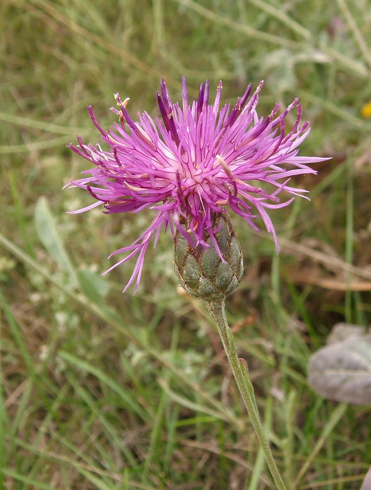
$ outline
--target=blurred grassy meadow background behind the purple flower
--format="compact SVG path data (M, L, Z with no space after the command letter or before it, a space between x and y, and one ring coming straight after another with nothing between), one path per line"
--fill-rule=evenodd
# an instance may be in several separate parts
M2 0L1 488L274 488L171 236L122 294L133 262L100 273L151 212L66 214L92 202L62 191L88 168L66 145L100 142L86 106L103 127L115 92L157 115L161 77L174 101L182 75L191 96L222 79L231 103L264 79L261 116L299 97L301 154L332 157L295 180L311 202L271 214L279 256L233 218L245 275L226 309L288 488L360 488L370 407L313 392L307 364L335 323L370 324L370 27L367 0Z

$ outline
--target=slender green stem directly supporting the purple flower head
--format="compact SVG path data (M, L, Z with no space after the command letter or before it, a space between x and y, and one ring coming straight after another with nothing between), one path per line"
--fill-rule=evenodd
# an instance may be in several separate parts
M271 471L274 483L278 490L286 490L285 484L282 481L281 475L274 463L271 448L269 447L268 439L264 434L264 429L259 418L258 408L256 406L254 389L250 380L248 379L247 369L244 371L241 368L240 361L237 357L236 345L234 343L234 338L232 331L229 328L228 321L225 317L224 312L224 300L217 301L205 301L206 307L215 321L219 335L222 339L223 347L228 358L229 365L232 369L233 376L236 380L238 389L241 393L242 399L244 400L245 406L247 408L248 416L250 417L252 426L259 440L259 443L263 449L267 465Z

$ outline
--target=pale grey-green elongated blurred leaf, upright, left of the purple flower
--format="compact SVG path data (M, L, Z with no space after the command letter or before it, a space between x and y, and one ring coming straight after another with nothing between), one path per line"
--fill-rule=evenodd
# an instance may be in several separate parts
M50 212L48 201L40 197L35 206L35 225L40 241L48 250L58 266L68 272L76 284L76 274L57 231L55 220Z

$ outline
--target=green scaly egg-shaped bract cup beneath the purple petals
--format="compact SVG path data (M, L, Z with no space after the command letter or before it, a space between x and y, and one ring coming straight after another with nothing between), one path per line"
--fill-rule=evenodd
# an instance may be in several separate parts
M185 229L188 223L185 223ZM214 213L214 238L225 262L222 261L210 235L205 231L203 240L210 245L195 248L179 232L174 238L174 268L180 285L187 293L205 301L225 298L240 284L244 266L241 246L226 213Z

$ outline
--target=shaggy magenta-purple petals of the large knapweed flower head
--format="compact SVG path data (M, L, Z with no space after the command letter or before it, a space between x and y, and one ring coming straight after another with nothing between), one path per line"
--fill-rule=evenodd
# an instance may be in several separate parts
M217 88L213 104L209 104L209 82L202 83L198 100L188 103L186 80L183 78L182 106L172 103L164 80L161 94L157 94L161 119L153 120L147 112L138 114L134 122L127 110L129 99L122 101L115 95L119 116L104 131L97 122L91 106L88 112L109 145L104 151L100 145L84 145L78 137L79 147L70 148L94 164L82 172L86 177L71 182L72 186L86 189L96 202L74 211L80 213L103 204L105 213L137 213L149 207L154 218L147 230L131 245L113 252L128 254L109 270L137 255L133 274L124 291L135 280L137 291L143 270L144 256L152 238L156 245L161 229L169 227L173 237L176 230L196 247L207 248L204 232L214 238L212 215L227 208L242 216L257 229L253 219L256 211L273 234L278 251L277 237L267 209L289 205L294 197L280 202L279 194L286 191L293 196L307 192L288 185L293 175L317 173L306 164L325 158L297 156L298 147L307 137L309 123L299 125L301 105L297 98L285 111L277 115L279 104L267 117L256 112L258 94L263 82L251 95L251 85L237 99L231 109L224 104L220 109L222 82ZM297 119L286 132L285 118L297 107ZM265 189L259 187L264 183ZM269 184L267 186L267 184ZM268 187L268 190L267 190ZM184 229L184 222L190 223ZM221 256L222 260L223 257ZM106 273L105 272L105 273Z

